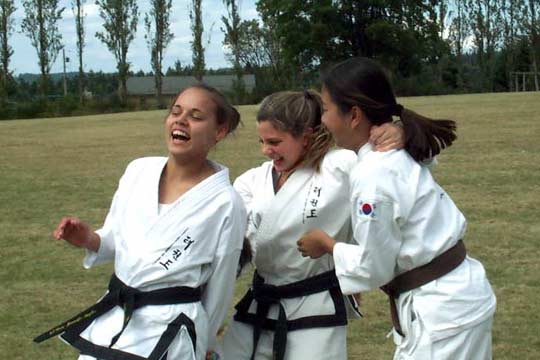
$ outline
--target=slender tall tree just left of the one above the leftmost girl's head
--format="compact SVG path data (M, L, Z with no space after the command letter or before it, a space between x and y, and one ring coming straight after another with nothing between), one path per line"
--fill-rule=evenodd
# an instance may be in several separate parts
M144 18L146 35L144 36L151 53L152 70L156 86L156 97L161 103L163 52L171 42L170 13L172 0L152 0L151 9Z

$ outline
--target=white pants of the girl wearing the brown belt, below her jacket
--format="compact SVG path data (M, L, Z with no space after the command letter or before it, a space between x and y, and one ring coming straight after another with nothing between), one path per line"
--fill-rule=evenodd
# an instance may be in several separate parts
M433 341L422 324L416 339L398 346L394 360L490 360L493 316L456 335Z

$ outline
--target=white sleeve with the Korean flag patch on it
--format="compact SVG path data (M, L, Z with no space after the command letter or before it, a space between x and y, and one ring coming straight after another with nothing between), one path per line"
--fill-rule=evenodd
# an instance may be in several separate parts
M354 241L334 247L336 276L344 294L376 289L394 278L401 247L399 196L405 184L389 169L351 173Z

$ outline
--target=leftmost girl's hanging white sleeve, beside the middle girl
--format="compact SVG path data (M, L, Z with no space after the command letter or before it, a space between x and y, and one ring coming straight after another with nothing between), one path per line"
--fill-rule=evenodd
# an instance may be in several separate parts
M236 208L235 208L236 207ZM212 274L202 295L208 314L208 351L217 350L217 332L227 315L234 293L236 270L245 233L245 209L240 200L233 206L233 214L223 223L219 245L212 262Z

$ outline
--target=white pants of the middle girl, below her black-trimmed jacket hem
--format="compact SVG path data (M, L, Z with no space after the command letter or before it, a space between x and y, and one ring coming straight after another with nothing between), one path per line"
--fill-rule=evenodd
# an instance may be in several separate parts
M256 360L272 359L273 331L261 331ZM253 351L253 327L231 321L223 337L222 360L245 360ZM347 327L313 328L289 331L285 360L346 360Z

